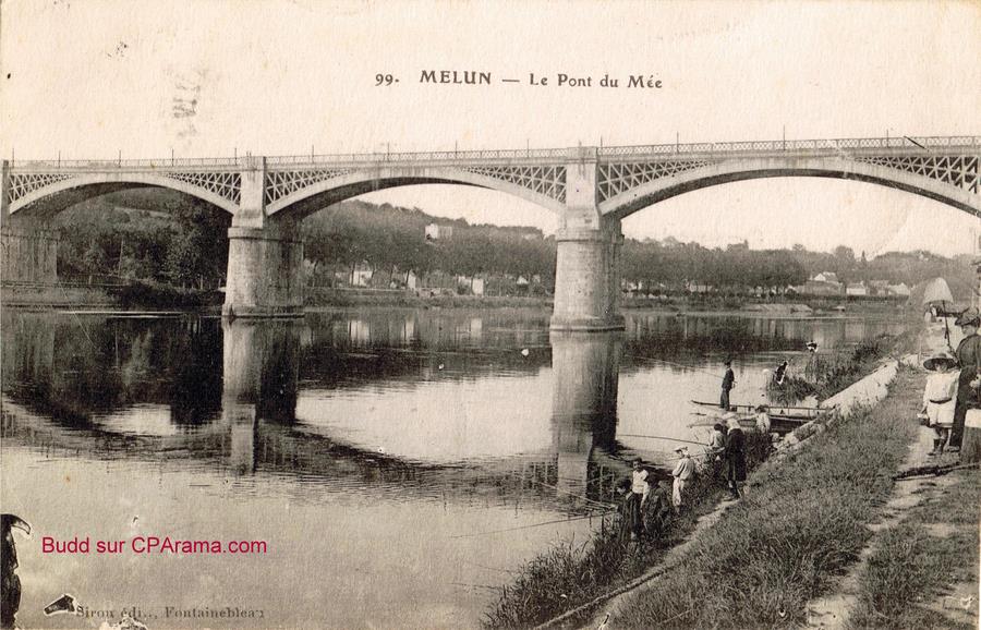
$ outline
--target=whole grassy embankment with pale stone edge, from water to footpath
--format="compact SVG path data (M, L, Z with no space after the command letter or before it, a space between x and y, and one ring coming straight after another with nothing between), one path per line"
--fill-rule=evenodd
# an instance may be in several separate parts
M909 340L897 340L898 349L906 350ZM604 593L618 597L608 608L616 611L610 627L799 622L808 599L857 557L868 535L864 523L892 487L891 475L915 429L909 409L922 384L913 380L898 362L886 361L841 390L827 401L835 414L788 436L777 457L751 474L748 495L683 552L679 548L680 554L669 552L695 531L700 516L716 509L724 494L708 475L692 488L689 511L641 548L610 552L606 534L592 545L553 549L531 562L502 589L487 625L576 627L606 604ZM909 421L897 424L897 417ZM753 463L765 453L748 450L756 458ZM598 559L615 570L594 568ZM629 583L641 573L651 579ZM628 593L620 594L622 590ZM573 609L576 615L553 622Z

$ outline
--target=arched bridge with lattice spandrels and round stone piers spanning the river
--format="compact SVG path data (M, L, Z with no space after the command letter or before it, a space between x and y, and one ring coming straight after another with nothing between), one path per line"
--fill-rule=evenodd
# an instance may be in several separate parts
M622 328L618 258L625 217L686 192L773 177L869 182L981 217L981 136L766 141L533 150L378 153L162 160L3 161L7 269L53 278L47 220L87 198L173 189L232 216L225 313L295 316L303 244L295 226L330 204L439 183L500 191L558 216L553 329ZM12 219L12 220L11 220Z

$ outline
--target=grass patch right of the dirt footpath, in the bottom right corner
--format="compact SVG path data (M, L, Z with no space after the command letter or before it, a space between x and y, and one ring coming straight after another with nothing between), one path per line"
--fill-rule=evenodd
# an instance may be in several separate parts
M961 470L954 485L917 506L899 525L883 533L859 579L853 628L956 627L923 606L956 582L978 580L978 513L981 474ZM953 525L935 536L930 525ZM978 614L974 602L974 615ZM964 625L971 628L973 625Z

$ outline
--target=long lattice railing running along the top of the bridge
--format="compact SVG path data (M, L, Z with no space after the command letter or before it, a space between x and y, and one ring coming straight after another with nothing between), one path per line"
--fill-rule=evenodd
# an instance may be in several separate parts
M444 150L444 152L397 152L368 154L307 154L293 156L268 156L266 165L277 167L300 165L376 165L376 163L452 163L458 161L510 161L510 160L590 160L604 157L623 156L667 156L674 154L753 154L779 152L849 152L855 149L918 149L981 147L981 136L898 136L859 137L837 140L792 140L792 141L740 141L686 144L652 144L605 147L567 147L537 149L491 149L491 150ZM116 159L116 160L21 160L10 161L13 170L86 170L86 169L161 169L201 168L229 169L249 168L258 156L237 156L230 158L170 158L170 159Z

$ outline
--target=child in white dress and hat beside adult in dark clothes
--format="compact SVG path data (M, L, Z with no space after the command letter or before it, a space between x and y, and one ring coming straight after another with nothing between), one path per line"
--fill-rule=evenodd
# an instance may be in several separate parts
M923 390L920 415L935 432L933 451L959 451L967 412L981 407L981 314L965 311L954 323L964 331L957 350L938 352L923 362L931 372Z

